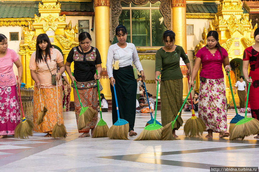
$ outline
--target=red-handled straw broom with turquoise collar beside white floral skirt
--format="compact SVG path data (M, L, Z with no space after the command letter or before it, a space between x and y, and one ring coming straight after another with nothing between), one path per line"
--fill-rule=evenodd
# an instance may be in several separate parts
M188 85L190 84L188 76ZM190 93L191 104L192 104L192 94ZM184 134L186 137L201 137L206 126L201 118L195 116L193 104L192 104L192 117L188 119L184 125Z

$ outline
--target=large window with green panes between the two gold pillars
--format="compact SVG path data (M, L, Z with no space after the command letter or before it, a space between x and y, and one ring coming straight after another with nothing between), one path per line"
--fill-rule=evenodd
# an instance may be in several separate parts
M164 17L160 13L160 4L146 3L144 5L126 4L121 2L122 12L119 17L119 24L126 27L127 41L136 47L163 46L162 35L167 28L164 25ZM113 44L118 42L116 35Z

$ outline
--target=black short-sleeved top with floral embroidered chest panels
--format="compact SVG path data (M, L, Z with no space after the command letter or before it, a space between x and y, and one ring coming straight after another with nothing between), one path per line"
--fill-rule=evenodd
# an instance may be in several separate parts
M74 77L78 82L87 82L94 80L97 64L101 64L101 55L97 48L92 47L90 51L82 53L77 47L70 50L67 56L67 62L74 61Z

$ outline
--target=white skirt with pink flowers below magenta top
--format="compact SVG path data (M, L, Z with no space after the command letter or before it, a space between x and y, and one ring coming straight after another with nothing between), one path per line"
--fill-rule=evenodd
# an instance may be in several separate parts
M200 80L198 115L206 130L227 131L226 90L224 78Z

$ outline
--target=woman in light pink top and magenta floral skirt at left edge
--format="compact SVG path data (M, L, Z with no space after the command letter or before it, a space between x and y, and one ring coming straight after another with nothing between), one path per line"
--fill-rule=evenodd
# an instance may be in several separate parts
M22 63L14 50L8 47L7 38L0 34L0 138L13 135L20 123L20 105L16 86L21 86ZM14 76L13 63L18 68Z

